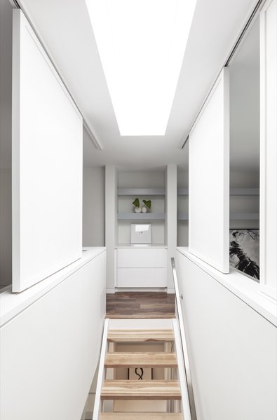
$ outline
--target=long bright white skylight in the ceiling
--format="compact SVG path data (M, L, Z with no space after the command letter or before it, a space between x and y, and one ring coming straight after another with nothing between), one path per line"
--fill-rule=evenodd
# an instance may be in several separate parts
M196 0L86 0L121 136L163 136Z

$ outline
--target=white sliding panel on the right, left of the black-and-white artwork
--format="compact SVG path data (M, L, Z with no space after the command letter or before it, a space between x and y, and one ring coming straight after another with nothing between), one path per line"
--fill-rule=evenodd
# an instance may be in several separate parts
M189 252L229 272L229 69L189 134Z

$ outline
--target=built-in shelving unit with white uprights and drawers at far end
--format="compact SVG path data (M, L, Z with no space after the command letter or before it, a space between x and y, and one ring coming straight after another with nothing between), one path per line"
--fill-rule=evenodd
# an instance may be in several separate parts
M168 260L176 246L176 165L155 171L106 168L108 288L170 288ZM135 213L133 201L151 200L151 210ZM151 244L130 244L132 223L151 223ZM114 266L114 269L112 269Z

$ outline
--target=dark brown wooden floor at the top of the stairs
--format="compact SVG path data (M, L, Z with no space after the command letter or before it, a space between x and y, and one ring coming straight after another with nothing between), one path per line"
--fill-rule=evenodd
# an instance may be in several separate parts
M106 295L106 318L175 318L175 295L119 292Z

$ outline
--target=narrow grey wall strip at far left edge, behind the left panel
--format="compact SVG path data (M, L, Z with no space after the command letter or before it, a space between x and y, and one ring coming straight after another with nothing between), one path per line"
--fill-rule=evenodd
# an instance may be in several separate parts
M0 0L0 288L11 284L11 3Z

